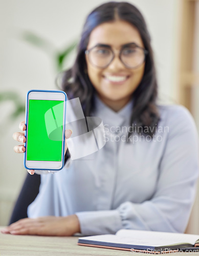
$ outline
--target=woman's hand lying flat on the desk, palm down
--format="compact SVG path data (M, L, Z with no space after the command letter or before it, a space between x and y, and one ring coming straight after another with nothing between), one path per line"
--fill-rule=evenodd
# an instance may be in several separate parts
M2 233L31 234L38 236L73 236L80 233L77 215L67 217L46 216L21 219L1 230Z

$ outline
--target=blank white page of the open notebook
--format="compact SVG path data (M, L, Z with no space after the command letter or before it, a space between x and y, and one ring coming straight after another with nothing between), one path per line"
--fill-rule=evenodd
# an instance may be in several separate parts
M191 244L194 245L198 240L197 234L169 233L158 231L129 230L121 229L116 233L117 243L146 245L146 246L165 246L171 244Z

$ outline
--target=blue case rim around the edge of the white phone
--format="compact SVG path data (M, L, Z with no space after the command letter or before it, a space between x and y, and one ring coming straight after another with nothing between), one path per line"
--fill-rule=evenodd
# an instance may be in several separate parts
M30 91L28 91L28 93L27 93L27 96L26 96L26 125L27 125L27 123L28 123L28 95L29 95L29 93L30 92L53 92L53 93L63 93L64 94L64 96L65 96L65 101L67 101L67 94L65 93L65 92L63 92L63 91L54 91L54 90L30 90ZM67 108L67 106L66 106L66 104L65 104L65 114L66 114L66 108ZM65 131L65 114L64 114L64 125L63 125L63 131ZM27 130L26 130L27 131ZM26 134L26 131L25 131L25 137L27 136L27 134ZM26 147L26 142L24 143L24 146ZM48 170L61 170L62 168L63 168L63 166L64 166L64 149L65 149L65 136L63 136L63 155L62 155L62 166L61 166L61 168L59 168L59 169L50 169L50 168L48 168ZM25 153L24 153L24 167L26 168L26 169L28 169L28 170L31 170L31 169L33 169L33 168L29 168L29 167L27 167L26 166L26 151L25 151ZM47 170L47 169L41 169L41 168L34 168L35 170Z

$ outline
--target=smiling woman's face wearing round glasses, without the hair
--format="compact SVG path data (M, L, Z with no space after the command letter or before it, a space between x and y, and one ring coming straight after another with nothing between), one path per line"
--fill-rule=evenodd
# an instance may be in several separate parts
M87 72L94 88L103 102L119 111L144 74L145 49L139 31L120 19L101 24L91 32L87 49Z

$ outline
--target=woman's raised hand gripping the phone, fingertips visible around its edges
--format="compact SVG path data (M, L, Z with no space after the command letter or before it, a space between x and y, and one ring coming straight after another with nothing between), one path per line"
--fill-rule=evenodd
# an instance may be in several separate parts
M14 152L16 153L24 153L26 151L26 148L24 146L24 143L26 142L25 132L26 131L26 124L25 121L19 123L19 129L22 131L20 133L13 133L12 137L14 140L22 142L23 144L14 146ZM65 152L67 152L67 139L71 137L72 131L71 130L65 130ZM64 154L65 154L64 152ZM33 175L35 172L34 170L27 170L29 174Z

